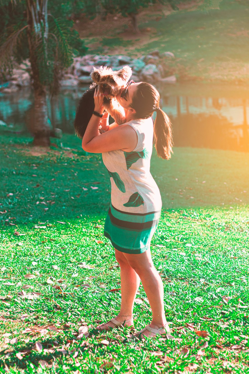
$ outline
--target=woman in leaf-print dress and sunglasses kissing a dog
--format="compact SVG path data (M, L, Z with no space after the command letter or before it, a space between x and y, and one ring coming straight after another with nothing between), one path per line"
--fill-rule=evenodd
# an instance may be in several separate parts
M162 208L159 188L150 174L150 157L153 134L158 156L163 159L171 157L171 123L159 108L158 91L149 83L131 81L121 89L116 99L124 108L126 123L108 125L108 114L103 114L103 95L96 90L94 114L82 140L85 151L102 153L111 178L111 206L104 235L115 248L121 270L120 311L97 329L133 325L134 300L141 279L152 309L152 321L135 336L153 337L168 333L169 327L164 313L162 280L150 254L150 241Z

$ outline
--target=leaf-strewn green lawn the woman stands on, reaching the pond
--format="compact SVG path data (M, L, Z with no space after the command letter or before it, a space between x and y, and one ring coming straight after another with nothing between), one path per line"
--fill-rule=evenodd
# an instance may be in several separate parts
M151 250L171 335L141 342L94 330L121 301L101 155L73 135L47 150L29 141L0 139L0 373L249 373L249 154L153 154ZM140 287L131 331L150 319Z

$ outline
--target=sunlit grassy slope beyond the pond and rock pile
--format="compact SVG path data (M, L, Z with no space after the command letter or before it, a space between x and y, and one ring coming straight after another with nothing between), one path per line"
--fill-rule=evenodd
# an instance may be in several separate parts
M121 15L108 15L106 21L83 18L75 27L89 53L141 56L155 49L170 51L175 60L165 64L178 80L248 82L248 0L210 1L209 10L202 3L181 1L179 11L159 4L143 9L138 15L141 33L136 35Z

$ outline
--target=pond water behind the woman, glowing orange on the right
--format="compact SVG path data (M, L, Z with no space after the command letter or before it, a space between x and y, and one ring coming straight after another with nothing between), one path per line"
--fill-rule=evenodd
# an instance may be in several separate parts
M160 106L172 122L175 146L249 151L249 89L205 84L156 88L161 94ZM85 89L63 89L53 101L53 111L49 103L53 127L74 133L75 111ZM31 89L0 94L0 120L8 125L5 131L27 133L32 106Z

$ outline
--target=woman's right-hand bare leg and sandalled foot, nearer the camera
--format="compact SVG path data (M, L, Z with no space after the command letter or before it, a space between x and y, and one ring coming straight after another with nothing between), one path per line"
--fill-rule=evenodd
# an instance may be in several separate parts
M159 276L152 258L150 249L140 254L128 254L124 253L128 264L138 274L143 284L144 291L146 292L147 298L150 303L152 310L152 321L149 324L150 327L158 329L166 324L165 312L164 312L164 286L162 279ZM161 333L169 332L168 324L161 330ZM153 336L154 334L145 331L144 335Z

